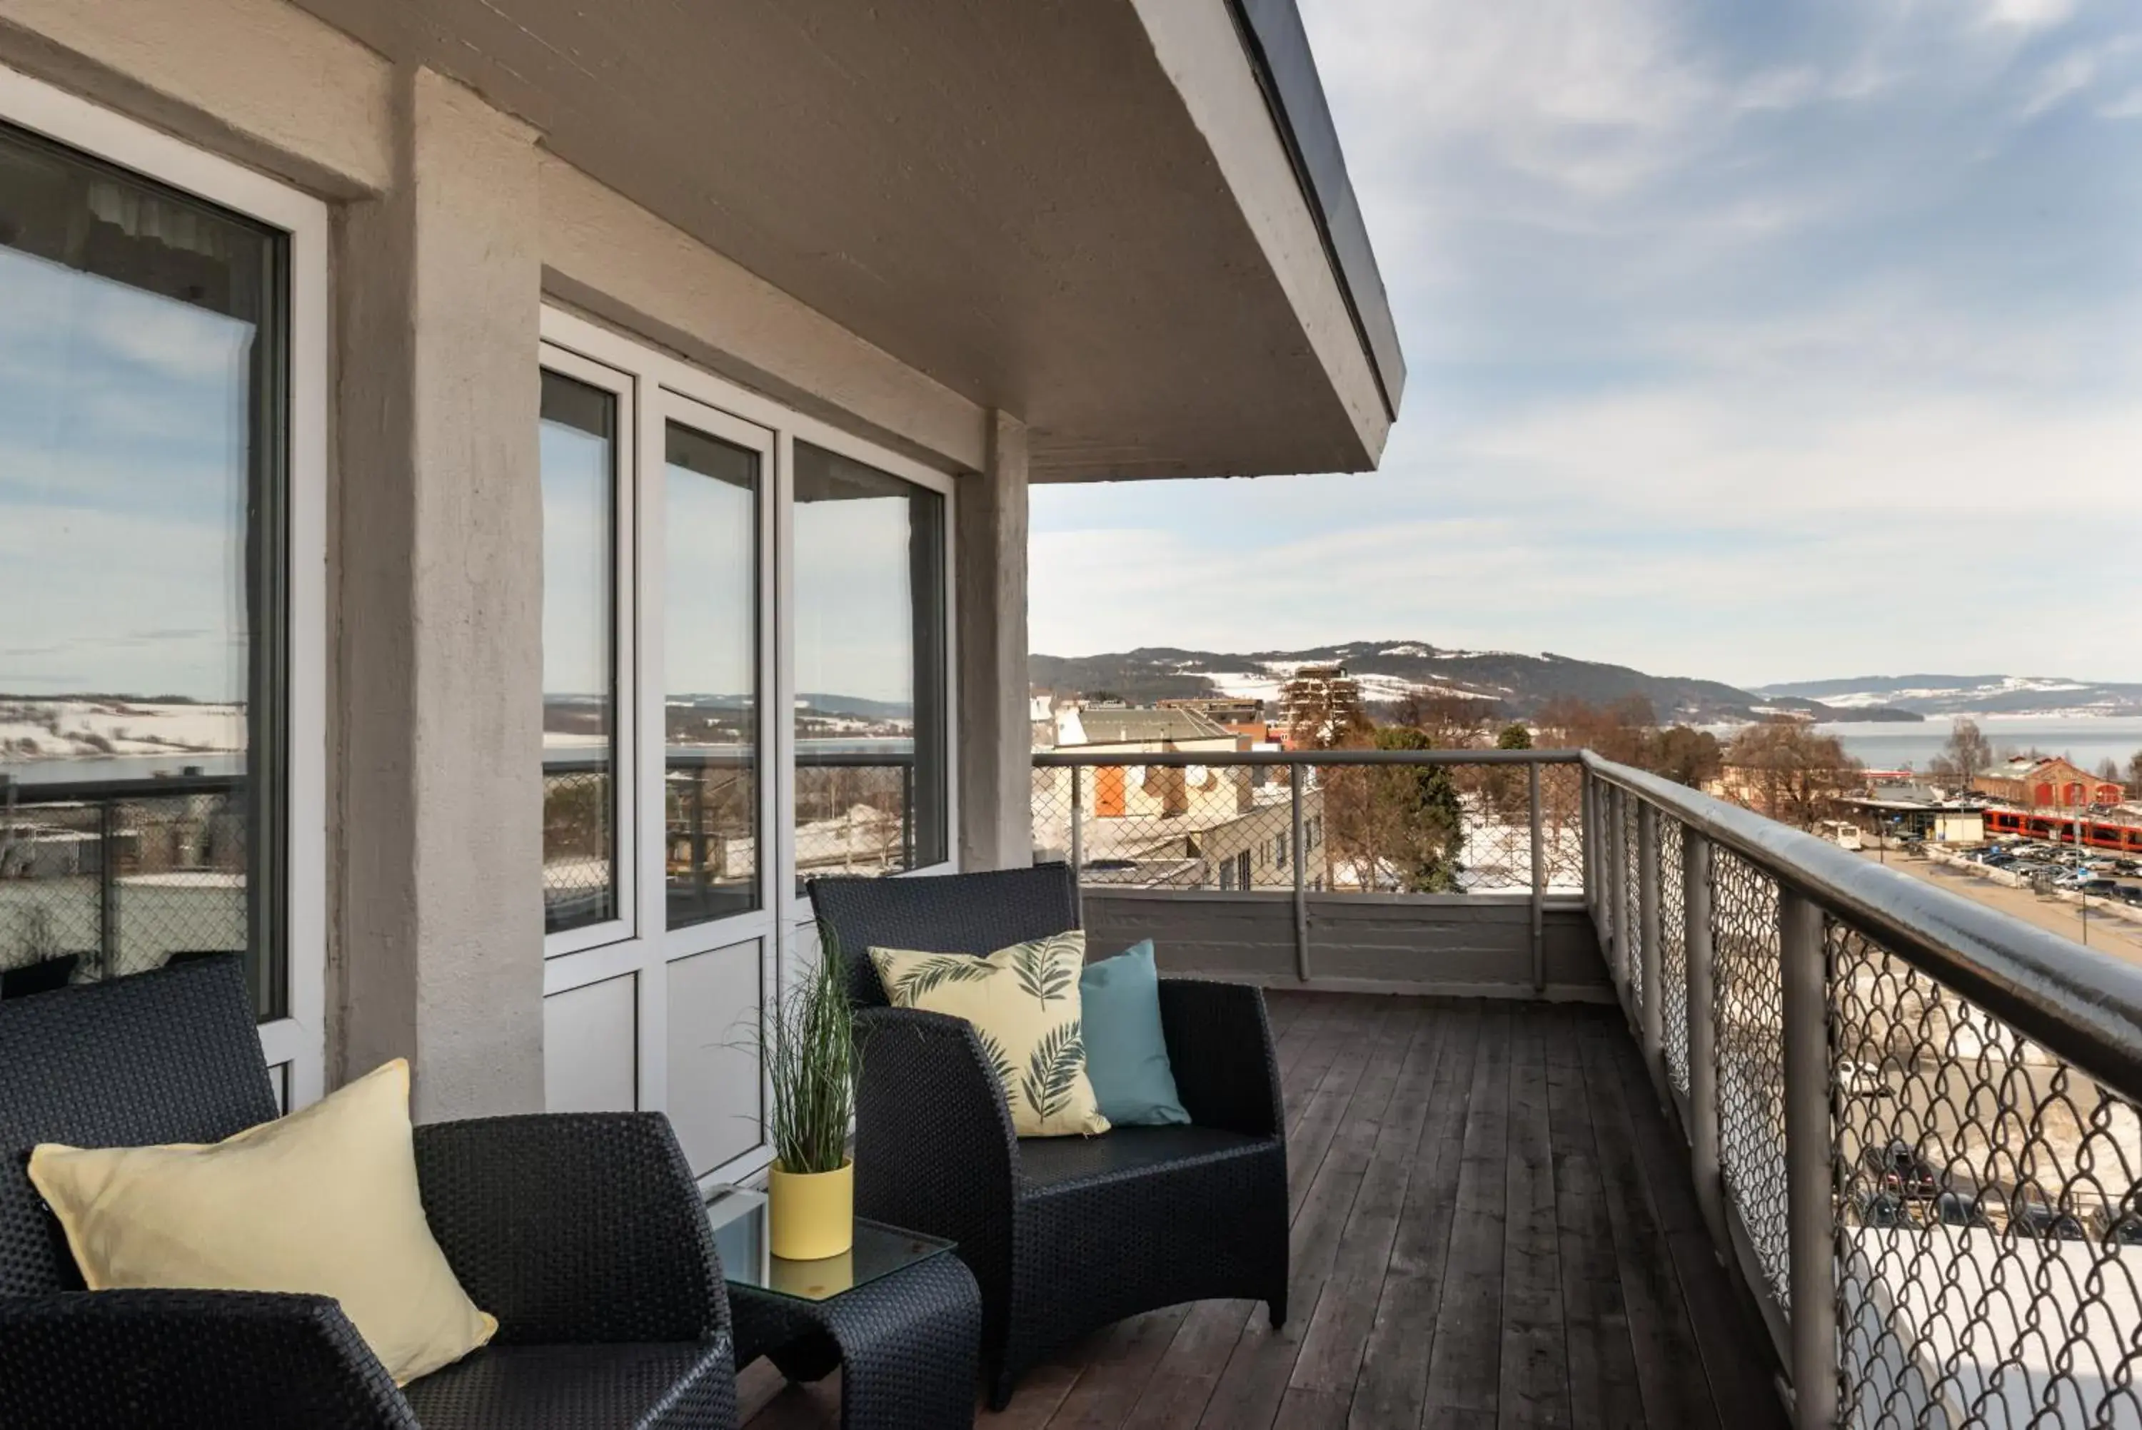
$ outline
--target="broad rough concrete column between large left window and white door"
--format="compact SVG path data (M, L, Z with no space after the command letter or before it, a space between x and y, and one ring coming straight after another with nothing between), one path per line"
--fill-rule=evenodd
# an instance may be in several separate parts
M330 1079L420 1120L542 1109L536 135L394 77L394 184L341 214Z

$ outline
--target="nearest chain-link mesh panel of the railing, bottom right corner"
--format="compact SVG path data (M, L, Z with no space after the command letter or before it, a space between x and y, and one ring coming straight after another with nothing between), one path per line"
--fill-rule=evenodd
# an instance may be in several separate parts
M2142 1426L2142 1117L1834 923L1840 1421Z

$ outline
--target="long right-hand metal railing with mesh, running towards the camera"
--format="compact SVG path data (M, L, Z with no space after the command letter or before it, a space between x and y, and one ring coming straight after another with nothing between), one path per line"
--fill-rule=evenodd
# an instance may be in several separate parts
M1585 891L1801 1426L2142 1426L2142 970L1583 758Z

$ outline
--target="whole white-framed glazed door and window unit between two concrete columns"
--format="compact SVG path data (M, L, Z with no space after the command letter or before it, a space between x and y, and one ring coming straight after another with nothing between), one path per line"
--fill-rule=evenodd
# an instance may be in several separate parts
M544 1049L553 1109L767 1160L760 1010L801 880L951 850L949 482L544 315Z

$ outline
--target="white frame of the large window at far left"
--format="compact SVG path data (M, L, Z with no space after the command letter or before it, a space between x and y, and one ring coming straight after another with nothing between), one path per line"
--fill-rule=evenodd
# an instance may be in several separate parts
M4 64L0 120L289 235L287 1015L261 1023L259 1038L285 1102L304 1107L326 1092L328 206Z

